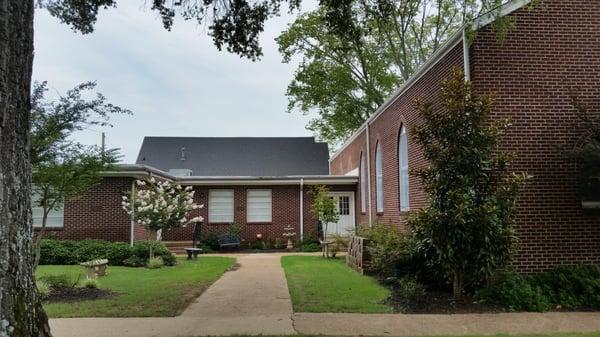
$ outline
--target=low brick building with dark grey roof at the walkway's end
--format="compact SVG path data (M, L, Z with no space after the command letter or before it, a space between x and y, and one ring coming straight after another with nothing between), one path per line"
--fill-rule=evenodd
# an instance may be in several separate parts
M147 239L147 233L121 208L122 196L137 179L166 179L193 186L194 210L205 221L201 232L227 232L241 225L242 242L284 240L292 226L297 238L314 237L317 221L311 212L314 185L326 185L336 198L340 222L330 232L354 228L357 178L330 176L329 151L313 138L193 138L146 137L134 165L106 172L86 195L50 214L47 230L58 239ZM34 207L34 225L41 210ZM191 241L193 227L162 233L165 241Z

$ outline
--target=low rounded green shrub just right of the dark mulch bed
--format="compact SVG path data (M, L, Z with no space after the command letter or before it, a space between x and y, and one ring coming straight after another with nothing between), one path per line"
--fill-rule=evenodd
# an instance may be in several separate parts
M486 303L499 305L509 311L547 311L551 308L542 288L514 272L501 271L478 292Z

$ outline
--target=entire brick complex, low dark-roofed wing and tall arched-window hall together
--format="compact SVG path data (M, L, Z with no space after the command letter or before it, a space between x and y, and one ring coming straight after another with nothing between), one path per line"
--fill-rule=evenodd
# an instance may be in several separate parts
M55 214L53 234L142 238L143 231L121 209L120 197L135 179L149 176L194 186L197 202L205 205L200 210L205 226L225 230L238 223L245 241L257 234L280 238L288 225L299 236L314 233L309 190L315 184L331 188L344 214L334 231L375 223L404 228L410 211L426 204L418 179L409 174L427 164L411 138L411 128L420 123L413 101L424 97L439 108L439 83L459 67L476 90L495 95L492 119L512 118L501 146L517 155L516 171L533 176L518 200L519 250L513 264L535 272L556 264L600 263L600 216L582 205L577 166L564 153L582 133L570 93L576 91L600 113L600 1L533 3L515 0L476 19L470 23L471 41L465 26L371 114L329 163L327 146L312 138L146 138L135 165L108 173L100 186ZM496 15L513 23L503 42L491 24ZM260 207L257 200L265 198L266 207ZM219 212L213 213L215 208ZM190 240L191 228L163 237Z

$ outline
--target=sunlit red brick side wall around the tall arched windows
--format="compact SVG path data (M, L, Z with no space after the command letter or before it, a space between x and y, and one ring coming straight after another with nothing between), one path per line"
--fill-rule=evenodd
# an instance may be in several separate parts
M413 108L414 99L427 97L435 102L434 98L437 96L439 82L450 73L453 66L462 67L462 55L462 44L459 43L369 125L373 223L394 224L403 228L406 212L400 212L398 186L398 137L400 128L404 125L408 132L408 163L410 168L422 167L426 163L421 149L415 146L411 139L411 128L421 122ZM438 106L438 103L435 102L434 106ZM383 213L377 213L376 206L375 147L378 142L381 143L383 159ZM366 131L363 131L359 137L356 137L331 161L332 174L343 174L359 167L361 151L366 156L365 148ZM349 160L352 162L352 167L342 166ZM358 186L359 192L357 193L355 208L360 210L360 183ZM410 208L415 209L424 206L425 195L418 179L410 176L409 186ZM368 187L366 189L368 191ZM368 212L368 206L366 211ZM368 221L367 214L361 214L359 223L367 224Z

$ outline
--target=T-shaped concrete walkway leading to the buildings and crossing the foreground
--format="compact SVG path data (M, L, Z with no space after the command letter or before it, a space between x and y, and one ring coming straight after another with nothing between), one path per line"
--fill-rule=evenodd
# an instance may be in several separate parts
M174 337L322 334L435 336L600 331L600 313L464 315L293 313L280 258L237 254L225 273L178 317L61 318L55 337Z

